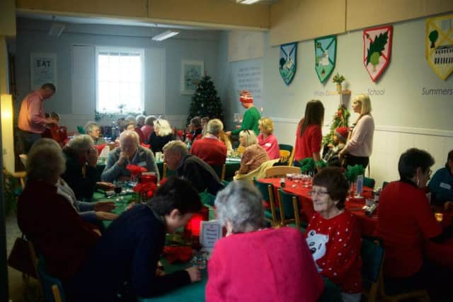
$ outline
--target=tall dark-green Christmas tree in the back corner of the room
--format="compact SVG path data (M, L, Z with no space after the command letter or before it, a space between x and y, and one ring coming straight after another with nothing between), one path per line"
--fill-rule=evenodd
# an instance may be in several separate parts
M210 117L210 119L223 120L222 103L220 103L220 98L217 96L210 76L203 76L195 93L193 93L187 118L188 124L193 117Z

